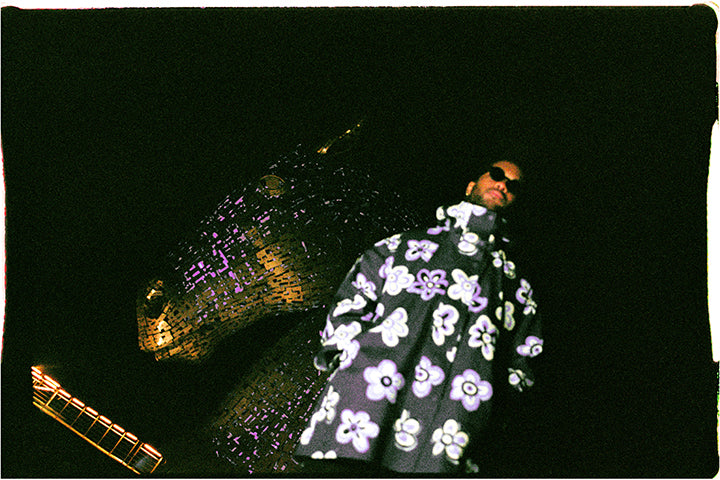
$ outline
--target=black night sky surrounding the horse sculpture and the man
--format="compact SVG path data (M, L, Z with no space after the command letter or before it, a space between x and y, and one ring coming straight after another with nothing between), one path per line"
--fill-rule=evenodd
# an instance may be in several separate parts
M524 475L713 476L715 29L706 7L4 8L2 475L131 475L32 408L30 365L178 448L238 360L141 353L138 288L262 162L366 117L368 168L423 212L481 156L534 154Z

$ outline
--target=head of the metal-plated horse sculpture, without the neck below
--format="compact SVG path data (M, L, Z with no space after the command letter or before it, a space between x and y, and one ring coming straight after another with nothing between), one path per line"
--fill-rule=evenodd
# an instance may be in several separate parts
M325 306L364 248L417 223L365 166L361 129L269 162L201 222L138 297L143 351L201 361L263 318Z

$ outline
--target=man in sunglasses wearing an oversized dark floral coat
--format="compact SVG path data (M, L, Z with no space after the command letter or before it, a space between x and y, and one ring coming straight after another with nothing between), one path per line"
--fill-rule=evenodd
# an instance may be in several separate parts
M543 348L532 289L504 250L500 213L522 179L517 163L493 163L438 226L355 263L315 359L334 372L296 450L308 473L459 473L493 441L493 401L533 385Z

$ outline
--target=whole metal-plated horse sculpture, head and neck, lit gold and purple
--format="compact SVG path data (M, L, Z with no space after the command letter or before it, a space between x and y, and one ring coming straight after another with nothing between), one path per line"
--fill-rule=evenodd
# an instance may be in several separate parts
M312 355L328 302L362 250L418 223L363 169L361 124L318 150L298 147L226 197L138 298L140 348L157 360L202 361L255 322L315 312L249 359L209 427L216 455L238 473L294 470L323 383Z

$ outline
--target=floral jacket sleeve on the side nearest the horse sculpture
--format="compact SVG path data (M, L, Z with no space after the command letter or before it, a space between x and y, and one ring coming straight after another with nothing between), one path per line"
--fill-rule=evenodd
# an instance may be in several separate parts
M314 359L318 370L343 368L344 362L357 353L353 350L358 343L353 339L382 316L379 310L383 306L378 299L384 286L383 266L388 259L392 261L392 252L386 239L365 251L346 275L330 304L321 332L321 349Z

